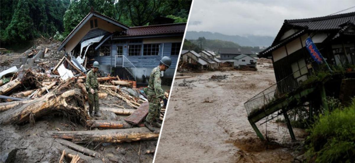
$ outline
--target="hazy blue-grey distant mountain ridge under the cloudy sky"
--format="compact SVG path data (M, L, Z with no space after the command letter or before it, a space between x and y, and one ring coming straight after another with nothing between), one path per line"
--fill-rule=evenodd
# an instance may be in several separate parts
M230 35L224 35L221 33L212 33L212 32L207 32L207 31L187 31L185 39L187 40L196 40L198 37L204 37L206 39L210 40L224 40L224 41L232 41L235 42L241 46L265 46L268 47L271 45L271 43L274 41L274 37L271 36L255 36L255 35L250 35L250 36L230 36Z

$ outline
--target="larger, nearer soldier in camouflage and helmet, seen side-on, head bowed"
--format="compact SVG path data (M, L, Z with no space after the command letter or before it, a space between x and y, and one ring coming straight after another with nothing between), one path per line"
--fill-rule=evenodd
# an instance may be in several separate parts
M171 59L169 57L163 57L160 60L159 66L154 68L149 77L148 87L144 88L144 92L148 96L149 112L146 117L145 126L154 131L153 126L161 127L161 124L157 122L160 116L160 101L166 99L164 91L162 89L161 71L165 71L171 65Z

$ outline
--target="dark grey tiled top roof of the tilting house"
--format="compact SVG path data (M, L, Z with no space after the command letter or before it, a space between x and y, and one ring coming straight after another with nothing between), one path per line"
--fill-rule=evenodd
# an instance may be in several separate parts
M304 28L308 27L309 30L342 29L341 25L346 22L355 23L355 12L316 18L285 20L286 24Z

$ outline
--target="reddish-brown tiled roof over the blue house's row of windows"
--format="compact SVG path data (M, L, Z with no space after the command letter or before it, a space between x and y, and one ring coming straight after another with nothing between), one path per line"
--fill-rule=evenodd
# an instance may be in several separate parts
M161 34L184 34L186 23L174 24L159 24L147 25L140 27L130 27L124 33L115 35L114 37L129 37L129 36L146 36L146 35L161 35Z

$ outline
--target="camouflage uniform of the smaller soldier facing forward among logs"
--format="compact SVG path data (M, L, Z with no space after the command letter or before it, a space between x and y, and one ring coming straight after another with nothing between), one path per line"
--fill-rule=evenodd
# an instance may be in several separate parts
M88 103L89 103L89 113L92 113L93 108L95 106L95 112L99 112L99 82L97 81L97 75L92 70L90 70L86 74L86 82L85 82L86 91L88 92ZM94 94L90 92L90 88L94 89Z

